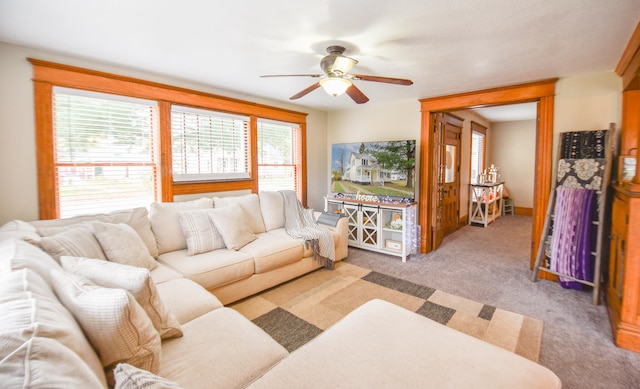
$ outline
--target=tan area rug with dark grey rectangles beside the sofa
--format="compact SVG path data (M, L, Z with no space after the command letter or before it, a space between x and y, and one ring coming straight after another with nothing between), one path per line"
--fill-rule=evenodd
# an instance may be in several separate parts
M230 305L289 352L382 299L538 362L542 320L338 262Z

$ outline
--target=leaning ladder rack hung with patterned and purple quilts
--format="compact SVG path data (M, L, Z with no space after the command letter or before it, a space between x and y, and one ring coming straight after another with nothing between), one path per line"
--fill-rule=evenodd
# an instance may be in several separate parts
M615 125L560 133L553 182L531 281L540 271L563 288L593 288L600 300L605 207L611 177Z

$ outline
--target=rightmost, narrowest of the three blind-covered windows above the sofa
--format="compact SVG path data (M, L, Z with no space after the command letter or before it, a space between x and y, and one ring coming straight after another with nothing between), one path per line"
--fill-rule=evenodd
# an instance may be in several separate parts
M258 119L258 189L295 190L300 187L300 126Z

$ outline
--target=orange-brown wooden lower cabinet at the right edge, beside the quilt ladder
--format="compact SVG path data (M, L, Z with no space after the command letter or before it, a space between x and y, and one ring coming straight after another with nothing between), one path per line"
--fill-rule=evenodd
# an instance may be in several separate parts
M640 194L614 188L607 308L616 345L640 352Z

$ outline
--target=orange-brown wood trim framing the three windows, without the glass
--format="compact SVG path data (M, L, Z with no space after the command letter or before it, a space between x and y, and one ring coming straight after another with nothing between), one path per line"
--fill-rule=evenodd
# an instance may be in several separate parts
M54 172L53 87L65 87L94 92L138 97L158 102L160 129L160 169L157 186L160 201L173 201L176 195L222 191L258 191L257 120L258 118L300 125L302 154L301 190L298 196L306 206L306 117L303 112L253 103L211 93L200 92L133 77L90 70L54 62L28 58L33 66L36 158L40 219L59 217L57 183ZM171 155L171 105L180 104L250 117L250 178L211 182L174 182Z

